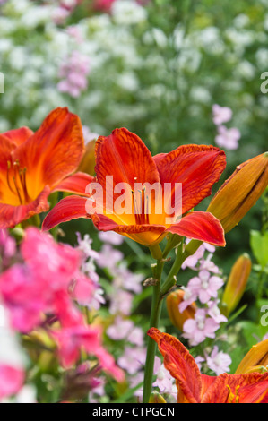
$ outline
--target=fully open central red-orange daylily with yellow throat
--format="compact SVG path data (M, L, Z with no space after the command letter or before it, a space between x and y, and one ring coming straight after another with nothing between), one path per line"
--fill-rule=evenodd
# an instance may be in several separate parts
M143 141L125 128L116 129L108 137L100 136L95 149L96 179L105 193L104 211L96 202L91 214L86 211L89 195L81 188L82 196L69 196L56 204L44 220L43 229L48 230L61 222L75 218L91 218L94 225L103 231L113 230L143 245L155 245L168 232L205 241L213 245L225 245L220 221L210 212L190 212L199 202L211 194L226 166L225 154L212 146L180 146L167 154L151 156ZM107 186L107 177L112 182ZM115 186L124 183L130 186L133 211L119 214L111 209L118 194ZM162 195L152 198L148 211L148 196L145 187L140 190L142 207L136 212L135 184L158 184L165 188L171 185L170 202L175 209L176 184L182 185L181 218L175 223L167 222L167 213L157 213L157 205L163 202ZM130 193L131 196L131 193ZM147 202L146 202L147 201ZM180 215L180 216L181 216ZM170 216L170 215L169 215Z

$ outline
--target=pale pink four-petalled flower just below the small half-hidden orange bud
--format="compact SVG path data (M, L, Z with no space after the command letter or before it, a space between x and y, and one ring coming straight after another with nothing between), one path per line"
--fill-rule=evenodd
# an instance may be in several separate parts
M215 331L219 329L219 323L207 317L204 309L195 312L195 319L188 319L184 323L184 338L189 339L190 345L195 346L203 342L206 338L215 338Z

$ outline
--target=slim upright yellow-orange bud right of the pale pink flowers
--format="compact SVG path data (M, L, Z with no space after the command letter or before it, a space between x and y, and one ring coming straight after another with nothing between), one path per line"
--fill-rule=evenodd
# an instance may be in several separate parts
M221 311L226 316L237 307L246 288L246 282L251 271L251 260L248 254L244 253L238 257L233 265L226 288L223 293Z

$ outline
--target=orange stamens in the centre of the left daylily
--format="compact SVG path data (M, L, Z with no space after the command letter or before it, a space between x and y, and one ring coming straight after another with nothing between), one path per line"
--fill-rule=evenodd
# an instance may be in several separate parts
M7 161L6 181L10 191L15 194L21 204L30 202L26 185L27 168L21 168L19 160Z

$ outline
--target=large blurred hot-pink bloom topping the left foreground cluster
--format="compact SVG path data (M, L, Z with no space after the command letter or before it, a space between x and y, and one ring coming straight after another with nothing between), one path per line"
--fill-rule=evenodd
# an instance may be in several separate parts
M56 244L52 236L37 228L26 230L21 252L24 263L13 265L0 276L0 295L13 328L31 331L48 313L56 313L59 319L72 323L76 321L77 311L68 289L73 279L80 278L81 253L69 245Z

